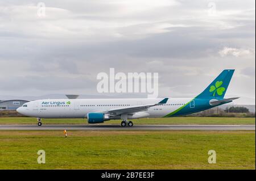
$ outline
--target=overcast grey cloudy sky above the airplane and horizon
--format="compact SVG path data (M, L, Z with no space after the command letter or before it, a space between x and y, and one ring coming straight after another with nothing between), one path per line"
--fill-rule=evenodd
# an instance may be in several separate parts
M110 68L158 73L159 97L174 98L236 69L226 97L255 104L255 1L0 2L0 99L102 96L97 74Z

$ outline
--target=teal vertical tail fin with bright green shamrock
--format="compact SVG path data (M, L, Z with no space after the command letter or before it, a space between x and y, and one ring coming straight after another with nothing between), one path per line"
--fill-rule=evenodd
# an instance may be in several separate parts
M233 69L223 70L220 75L196 98L224 98L229 82L234 73Z

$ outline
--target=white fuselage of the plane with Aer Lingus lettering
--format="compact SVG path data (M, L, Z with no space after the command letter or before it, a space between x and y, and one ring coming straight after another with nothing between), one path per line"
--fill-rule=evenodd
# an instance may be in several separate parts
M18 112L40 118L87 118L91 112L102 112L114 108L125 108L144 104L154 104L162 99L44 99L35 100L18 108ZM148 108L147 111L127 115L128 119L142 117L163 117L177 110L191 99L168 99L166 104ZM115 116L113 119L120 119Z

